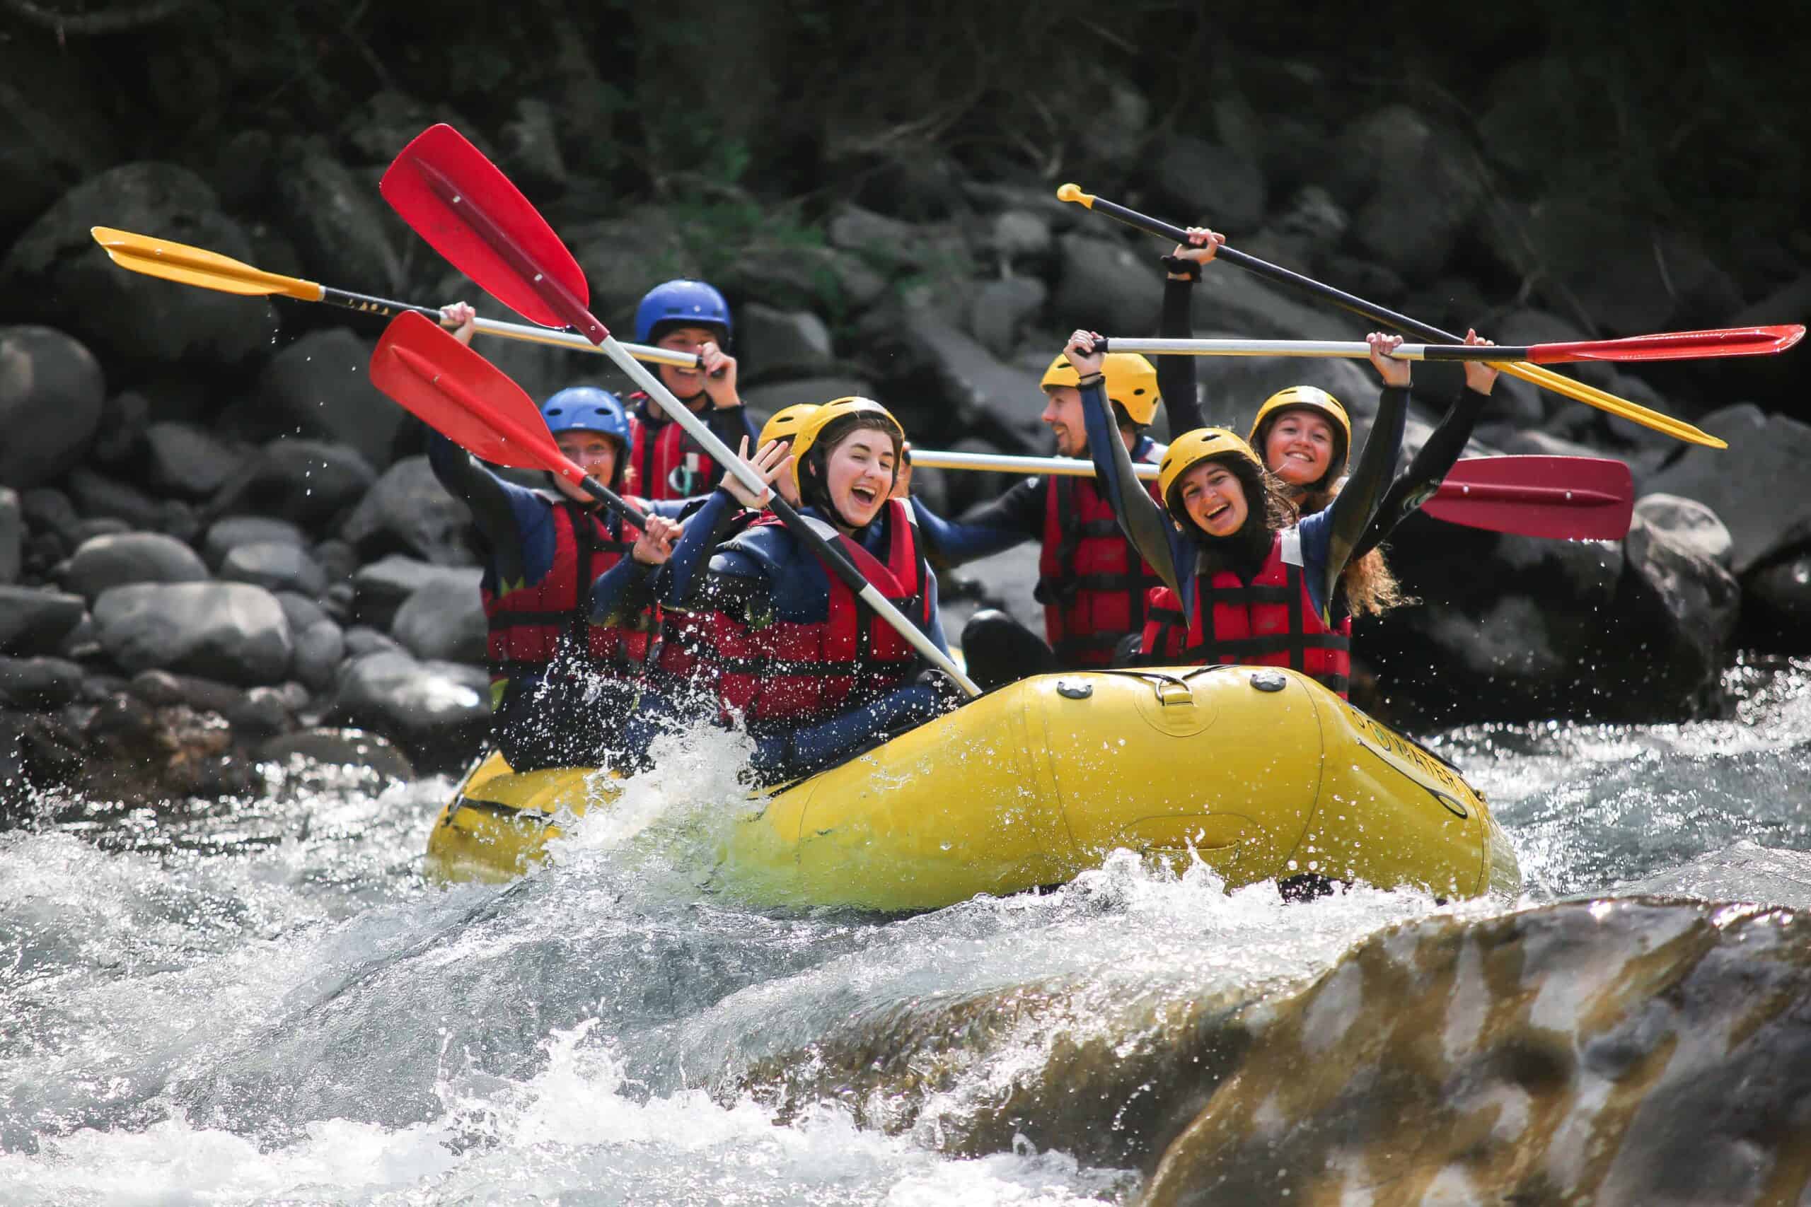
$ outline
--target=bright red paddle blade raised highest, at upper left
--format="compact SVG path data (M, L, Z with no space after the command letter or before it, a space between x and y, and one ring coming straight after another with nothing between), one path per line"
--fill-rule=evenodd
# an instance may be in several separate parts
M384 172L378 192L435 252L503 306L531 322L570 324L592 337L580 324L581 315L589 318L590 286L578 261L522 190L458 130L442 123L415 136Z

